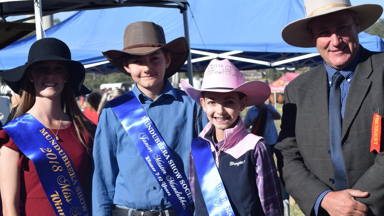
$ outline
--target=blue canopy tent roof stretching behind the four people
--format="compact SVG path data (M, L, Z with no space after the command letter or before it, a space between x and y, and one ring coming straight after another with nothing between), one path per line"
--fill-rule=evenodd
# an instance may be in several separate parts
M212 58L228 58L239 69L316 66L322 62L316 48L286 44L281 29L305 17L302 0L262 1L189 0L188 23L194 71L204 71ZM46 30L47 37L63 40L87 71L111 73L117 70L101 54L122 49L124 28L139 20L164 28L167 41L184 36L182 16L175 8L121 7L75 13ZM293 32L294 34L294 32ZM373 51L384 51L384 41L364 32L360 43ZM0 50L5 70L25 63L36 37L31 36ZM308 54L310 53L310 54ZM182 68L182 70L186 70Z

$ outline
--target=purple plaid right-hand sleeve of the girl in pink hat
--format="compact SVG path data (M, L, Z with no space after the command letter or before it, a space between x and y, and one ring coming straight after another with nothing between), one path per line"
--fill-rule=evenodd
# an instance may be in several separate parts
M268 144L261 140L255 148L256 185L263 211L268 216L284 214L283 198L276 165Z

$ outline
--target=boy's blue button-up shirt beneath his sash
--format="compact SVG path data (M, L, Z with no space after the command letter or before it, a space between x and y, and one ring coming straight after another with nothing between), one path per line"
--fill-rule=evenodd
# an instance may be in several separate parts
M208 122L205 113L199 109L199 103L184 91L173 88L167 79L156 101L144 95L136 84L132 91L167 143L177 166L188 176L191 140ZM171 207L109 103L99 118L93 158L94 216L111 215L114 205L146 211Z

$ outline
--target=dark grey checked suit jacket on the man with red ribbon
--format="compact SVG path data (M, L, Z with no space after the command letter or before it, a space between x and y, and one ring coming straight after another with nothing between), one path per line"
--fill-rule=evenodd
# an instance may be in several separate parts
M384 116L384 53L361 47L344 111L341 150L348 188L368 191L369 215L384 215L384 153L370 152L373 114ZM305 215L326 189L334 190L329 146L328 79L321 64L285 88L275 146L280 178ZM382 133L383 134L383 133ZM384 139L384 135L382 135ZM325 214L326 215L326 214Z

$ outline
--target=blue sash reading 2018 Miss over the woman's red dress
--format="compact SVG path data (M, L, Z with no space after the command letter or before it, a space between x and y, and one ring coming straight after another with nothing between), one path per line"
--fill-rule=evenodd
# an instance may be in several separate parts
M3 129L35 164L56 215L88 216L84 193L70 158L40 121L27 113Z

